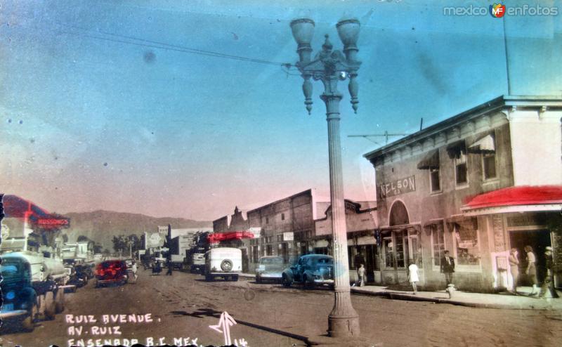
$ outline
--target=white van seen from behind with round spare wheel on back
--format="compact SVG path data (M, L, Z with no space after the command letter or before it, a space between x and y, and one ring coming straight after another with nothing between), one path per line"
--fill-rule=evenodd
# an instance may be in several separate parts
M211 248L205 253L205 280L215 277L237 281L242 273L242 251L231 247Z

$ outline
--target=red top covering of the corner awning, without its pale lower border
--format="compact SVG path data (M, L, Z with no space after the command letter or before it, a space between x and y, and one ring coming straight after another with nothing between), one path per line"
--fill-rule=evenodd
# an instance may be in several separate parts
M474 209L490 209L495 207L518 207L524 205L557 205L562 204L562 185L536 185L509 187L486 192L473 197L463 211ZM553 208L556 210L556 208Z

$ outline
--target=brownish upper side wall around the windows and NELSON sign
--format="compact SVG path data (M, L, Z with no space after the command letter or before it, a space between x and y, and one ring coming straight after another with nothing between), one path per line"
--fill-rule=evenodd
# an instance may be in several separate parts
M499 188L513 185L511 165L511 146L509 124L501 112L490 117L490 122L478 122L474 125L459 126L457 130L440 133L433 140L413 145L400 152L385 155L383 160L375 163L377 182L377 210L379 225L389 225L389 214L393 203L404 202L410 217L410 223L423 223L434 218L460 214L460 207L466 203L467 197L473 197ZM488 123L488 124L487 124ZM455 184L455 167L447 154L447 145L458 140L466 140L467 147L478 138L493 131L496 138L496 170L497 178L484 181L482 171L482 155L467 155L468 185L457 187ZM440 159L441 192L430 190L429 170L417 169L417 164L431 150L438 149ZM411 152L411 154L410 154ZM403 159L400 159L403 158ZM414 176L415 190L392 197L381 196L381 185L401 178Z

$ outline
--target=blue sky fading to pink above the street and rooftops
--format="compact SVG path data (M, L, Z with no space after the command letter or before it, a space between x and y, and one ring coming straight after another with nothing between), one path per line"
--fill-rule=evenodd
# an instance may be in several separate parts
M294 63L292 19L315 20L317 51L325 33L341 48L335 24L355 16L358 114L340 84L345 192L374 199L362 155L378 145L348 135L411 133L421 117L507 94L502 19L443 15L443 4L492 2L4 1L0 191L60 213L208 220L308 188L328 197L320 82L308 116L296 70L117 41ZM509 2L524 4L562 10ZM504 18L512 94L562 96L561 15Z

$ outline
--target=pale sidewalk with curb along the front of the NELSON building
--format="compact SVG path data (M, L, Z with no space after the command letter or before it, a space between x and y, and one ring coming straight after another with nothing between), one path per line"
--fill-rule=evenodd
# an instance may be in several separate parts
M240 277L255 278L255 275L243 273ZM382 286L367 285L365 287L351 287L354 294L384 296L394 300L429 301L433 303L450 303L452 305L479 307L479 308L503 308L511 310L562 310L562 297L559 299L540 299L537 296L529 296L530 287L517 289L520 295L508 292L499 294L483 294L456 291L449 299L445 290L437 292L412 292L386 289ZM558 293L560 294L560 293ZM549 294L547 294L549 296Z

